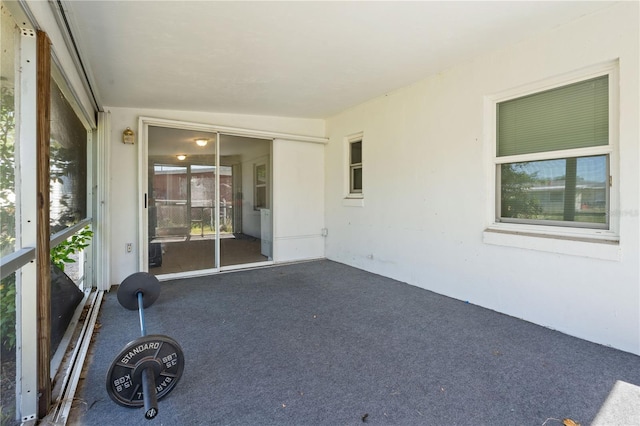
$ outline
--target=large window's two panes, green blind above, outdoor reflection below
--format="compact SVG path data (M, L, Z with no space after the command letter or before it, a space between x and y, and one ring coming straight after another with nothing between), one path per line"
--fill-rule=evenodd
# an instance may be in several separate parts
M496 104L496 221L609 229L609 75Z

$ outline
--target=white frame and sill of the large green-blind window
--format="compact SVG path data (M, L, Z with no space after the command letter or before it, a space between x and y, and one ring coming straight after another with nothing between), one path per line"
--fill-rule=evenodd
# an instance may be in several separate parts
M599 76L609 76L609 143L589 148L577 148L533 154L498 157L497 146L497 105L510 99L567 86ZM485 97L485 164L487 173L486 229L485 243L567 254L587 255L596 258L618 259L619 253L619 165L618 165L618 63L607 62L580 71L545 79L526 86L507 90ZM609 227L597 229L587 227L557 226L500 222L500 188L498 170L501 164L522 161L549 160L555 158L608 155L609 159ZM559 242L561 241L561 242ZM598 247L585 246L598 244Z

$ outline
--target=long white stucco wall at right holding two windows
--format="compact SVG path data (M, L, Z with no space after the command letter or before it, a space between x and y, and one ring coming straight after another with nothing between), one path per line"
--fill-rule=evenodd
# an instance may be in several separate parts
M327 257L640 354L638 16L637 2L623 2L330 118ZM494 202L485 97L616 59L615 255L602 244L483 242ZM343 200L344 137L360 131L364 201L355 207Z

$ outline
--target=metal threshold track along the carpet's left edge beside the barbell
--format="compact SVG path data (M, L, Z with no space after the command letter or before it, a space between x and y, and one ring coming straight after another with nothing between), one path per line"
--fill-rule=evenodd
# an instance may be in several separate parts
M103 290L93 291L89 301L83 306L83 309L88 308L87 314L82 322L82 328L78 334L74 349L68 355L69 360L66 363L66 368L57 374L62 382L53 408L49 411L47 417L43 419L47 424L66 425L69 420L69 413L71 412L74 395L89 352L103 297Z

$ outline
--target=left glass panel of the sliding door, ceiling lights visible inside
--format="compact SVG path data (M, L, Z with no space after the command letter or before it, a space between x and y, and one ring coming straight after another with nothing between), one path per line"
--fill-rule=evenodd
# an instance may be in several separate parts
M149 127L148 266L154 275L216 267L215 146L215 134Z

